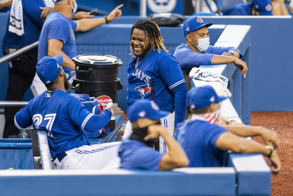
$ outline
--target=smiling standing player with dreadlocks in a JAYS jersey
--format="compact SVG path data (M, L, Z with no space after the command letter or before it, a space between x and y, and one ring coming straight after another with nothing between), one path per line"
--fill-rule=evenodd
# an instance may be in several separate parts
M134 55L128 65L128 106L137 99L153 100L169 114L161 119L162 126L173 135L174 127L184 120L186 85L178 62L168 53L160 28L150 20L139 20L131 29L130 49ZM175 112L174 112L175 111ZM124 137L132 133L131 123L125 127ZM160 138L160 152L168 147Z

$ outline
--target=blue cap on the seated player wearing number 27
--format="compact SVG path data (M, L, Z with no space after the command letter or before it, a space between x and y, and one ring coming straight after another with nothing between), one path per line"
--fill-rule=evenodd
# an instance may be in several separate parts
M50 84L58 76L63 57L56 55L54 57L45 56L37 64L37 74L44 84Z

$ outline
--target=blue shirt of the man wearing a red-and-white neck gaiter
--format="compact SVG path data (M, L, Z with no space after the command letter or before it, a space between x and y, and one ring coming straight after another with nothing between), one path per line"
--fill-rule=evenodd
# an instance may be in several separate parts
M174 137L186 152L187 167L221 167L225 152L218 150L216 141L226 132L226 129L202 120L178 124Z

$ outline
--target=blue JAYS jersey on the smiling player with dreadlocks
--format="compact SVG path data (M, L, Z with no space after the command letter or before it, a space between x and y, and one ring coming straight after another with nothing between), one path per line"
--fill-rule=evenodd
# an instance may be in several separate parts
M137 99L152 99L151 82L154 81L154 101L161 110L174 111L176 88L185 86L185 81L176 59L165 51L151 51L147 56L133 57L128 65L128 105Z

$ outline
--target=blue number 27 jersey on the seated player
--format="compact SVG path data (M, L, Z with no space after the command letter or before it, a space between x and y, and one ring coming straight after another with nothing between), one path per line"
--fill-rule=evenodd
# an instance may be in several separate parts
M62 90L45 91L16 113L14 127L22 130L33 125L46 130L51 155L56 159L67 150L87 145L82 130L100 130L110 121L111 115L109 109L99 115L90 113L78 98Z

